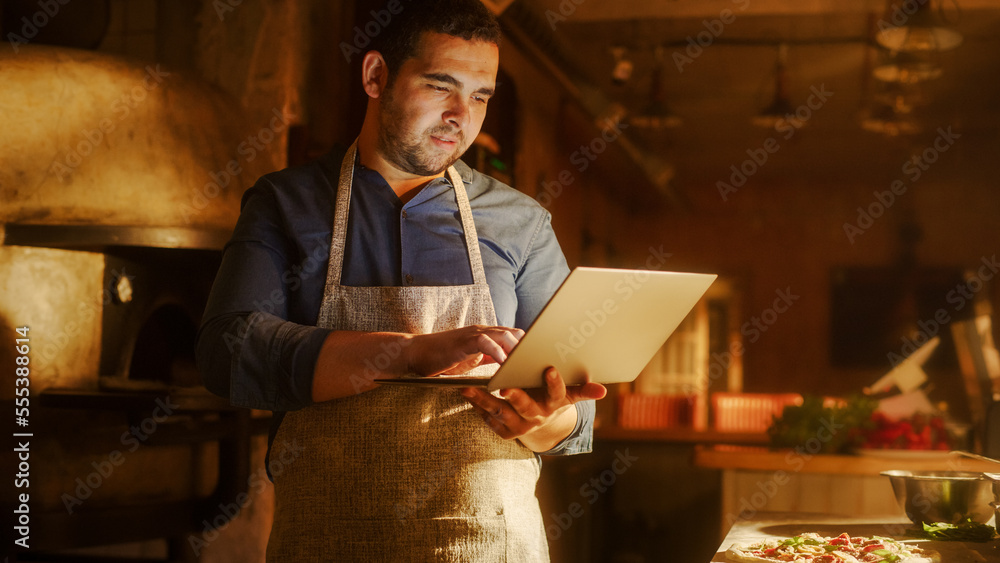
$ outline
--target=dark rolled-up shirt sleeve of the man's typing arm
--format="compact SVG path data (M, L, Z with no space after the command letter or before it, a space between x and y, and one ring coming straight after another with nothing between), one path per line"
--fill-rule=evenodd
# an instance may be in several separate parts
M290 411L312 404L312 378L330 331L291 322L287 283L299 261L273 186L261 179L243 197L240 218L198 332L205 386L239 407Z

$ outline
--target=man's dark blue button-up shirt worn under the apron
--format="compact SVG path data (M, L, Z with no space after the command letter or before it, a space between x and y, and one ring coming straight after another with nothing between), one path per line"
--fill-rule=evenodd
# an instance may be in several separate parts
M205 385L236 406L284 412L312 404L329 330L316 326L329 264L342 151L268 174L243 196L198 335ZM551 216L532 198L459 161L497 322L527 330L568 274ZM403 204L378 172L355 166L342 283L472 283L451 183L439 178ZM594 402L547 455L589 452ZM270 440L268 446L270 447Z

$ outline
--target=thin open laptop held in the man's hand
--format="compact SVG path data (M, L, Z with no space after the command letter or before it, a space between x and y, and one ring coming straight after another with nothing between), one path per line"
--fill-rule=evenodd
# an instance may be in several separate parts
M492 377L439 375L376 379L376 383L544 387L555 366L567 385L634 381L694 308L714 274L579 267L559 286Z

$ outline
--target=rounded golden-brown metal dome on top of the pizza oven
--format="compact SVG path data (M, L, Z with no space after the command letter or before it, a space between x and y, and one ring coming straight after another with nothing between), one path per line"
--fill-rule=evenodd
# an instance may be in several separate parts
M100 225L125 240L70 234L218 248L284 148L280 109L251 127L224 92L158 64L22 46L0 50L0 77L0 223L17 237L54 236L20 224Z

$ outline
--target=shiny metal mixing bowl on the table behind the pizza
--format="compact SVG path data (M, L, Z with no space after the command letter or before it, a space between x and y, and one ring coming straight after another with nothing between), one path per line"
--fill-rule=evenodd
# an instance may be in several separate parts
M985 524L993 517L993 482L970 471L883 471L896 502L914 524L971 518Z

